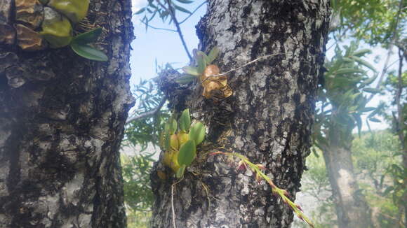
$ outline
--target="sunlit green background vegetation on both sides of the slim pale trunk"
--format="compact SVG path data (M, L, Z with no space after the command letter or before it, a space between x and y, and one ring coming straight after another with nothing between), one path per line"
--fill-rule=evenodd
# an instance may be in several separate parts
M356 179L366 201L375 211L373 216L379 222L378 227L382 228L401 228L400 221L403 220L398 205L405 202L394 197L393 193L397 189L399 192L396 195L401 196L401 190L406 189L401 189L389 171L394 168L402 174L401 169L396 168L401 165L399 150L398 138L389 131L363 132L352 141ZM316 227L333 227L336 225L335 207L323 158L310 155L307 157L307 167L309 170L304 173L302 191L319 204L312 213L312 220L316 222ZM396 179L406 180L406 173L403 175Z

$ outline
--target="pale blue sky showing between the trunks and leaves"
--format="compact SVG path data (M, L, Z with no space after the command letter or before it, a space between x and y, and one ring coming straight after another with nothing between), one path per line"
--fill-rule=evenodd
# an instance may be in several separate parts
M194 3L183 5L180 4L182 7L188 9L194 9L196 6L199 6L204 0L196 0ZM143 6L147 5L147 0L133 0L133 12L137 12ZM200 18L206 13L206 5L199 8L199 10L192 15L192 17L187 20L187 22L181 24L182 33L184 35L185 41L189 50L192 50L197 47L198 45L198 38L195 34L195 25L199 22ZM134 33L135 33L135 40L131 43L133 51L131 52L131 69L132 69L132 77L131 77L131 85L137 85L140 82L140 79L150 79L156 76L156 64L163 66L167 62L172 63L174 68L182 67L187 65L189 59L185 53L185 50L182 48L182 44L180 38L177 33L172 31L163 31L148 28L147 32L145 29L145 25L140 22L140 19L144 15L134 15L133 16L133 26L134 26ZM177 15L181 20L187 17L186 13L178 13ZM161 27L167 29L175 29L173 24L163 23L161 19L156 16L154 20L149 22L150 25L154 27ZM328 42L327 47L330 46ZM328 50L326 53L328 58L333 56L334 48ZM385 58L387 56L387 50L384 50L380 47L376 47L372 49L373 55L369 55L367 60L376 69L378 69L381 73L383 69L383 65L385 62ZM374 62L376 56L380 57L379 62ZM395 62L397 59L396 55L392 55L392 59L390 63ZM394 64L393 66L396 67L398 64ZM406 66L406 65L405 65ZM375 96L374 99L368 104L368 106L377 106L380 101L389 101L392 99L389 96ZM366 116L365 116L366 118ZM378 117L380 119L380 117ZM368 130L367 125L365 124L365 120L363 120L363 127L362 130ZM370 122L371 129L386 129L388 124L385 122L376 123ZM356 129L354 129L356 132Z

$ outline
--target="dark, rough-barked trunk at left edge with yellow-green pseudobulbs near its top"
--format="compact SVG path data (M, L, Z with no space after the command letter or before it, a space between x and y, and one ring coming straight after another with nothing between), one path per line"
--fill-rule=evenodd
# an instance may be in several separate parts
M1 0L0 29L20 26L19 3ZM126 227L119 145L133 105L131 1L91 1L87 19L104 29L108 62L0 38L1 228Z

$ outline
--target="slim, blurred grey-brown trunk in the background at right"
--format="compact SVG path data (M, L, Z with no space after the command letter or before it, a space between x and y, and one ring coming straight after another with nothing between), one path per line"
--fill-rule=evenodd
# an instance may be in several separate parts
M323 150L338 216L338 226L340 228L371 227L371 212L363 193L359 190L354 174L350 145L352 132L340 134L340 131L342 128L339 126L330 127L329 145Z

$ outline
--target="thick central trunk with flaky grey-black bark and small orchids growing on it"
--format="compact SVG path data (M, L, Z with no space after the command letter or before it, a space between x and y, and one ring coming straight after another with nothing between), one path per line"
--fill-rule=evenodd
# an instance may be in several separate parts
M161 75L159 85L171 108L189 107L206 124L206 141L213 144L198 150L197 162L187 168L173 195L175 179L159 180L153 171L152 227L173 227L172 209L178 228L289 227L293 212L266 183L258 185L251 171L237 171L236 160L204 154L246 155L265 165L274 183L295 196L309 155L328 16L328 1L209 1L197 34L201 50L220 48L215 64L221 71L281 55L229 73L234 94L227 99L205 99L200 83L177 87L175 71Z

